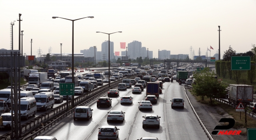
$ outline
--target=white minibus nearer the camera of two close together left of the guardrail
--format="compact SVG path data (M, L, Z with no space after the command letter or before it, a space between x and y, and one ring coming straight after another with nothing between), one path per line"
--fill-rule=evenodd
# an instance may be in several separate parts
M28 117L36 115L36 99L34 97L20 98L21 118L28 120Z

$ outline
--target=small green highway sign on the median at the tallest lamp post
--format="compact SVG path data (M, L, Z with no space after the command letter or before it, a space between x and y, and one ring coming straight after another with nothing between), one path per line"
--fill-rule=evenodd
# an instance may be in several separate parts
M60 95L75 95L74 83L60 83Z

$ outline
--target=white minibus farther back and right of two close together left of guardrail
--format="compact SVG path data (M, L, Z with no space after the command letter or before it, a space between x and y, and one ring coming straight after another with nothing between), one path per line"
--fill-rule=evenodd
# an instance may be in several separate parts
M47 108L53 108L54 106L54 95L52 92L41 92L35 94L34 98L36 98L36 107L39 110L47 111Z

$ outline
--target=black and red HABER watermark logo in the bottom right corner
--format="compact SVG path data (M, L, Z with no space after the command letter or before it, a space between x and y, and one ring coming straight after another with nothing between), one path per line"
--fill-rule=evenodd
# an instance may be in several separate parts
M220 122L228 122L229 124L227 126L215 126L214 130L220 131L212 131L213 135L240 135L242 132L241 130L228 130L235 125L235 120L232 118L222 118Z

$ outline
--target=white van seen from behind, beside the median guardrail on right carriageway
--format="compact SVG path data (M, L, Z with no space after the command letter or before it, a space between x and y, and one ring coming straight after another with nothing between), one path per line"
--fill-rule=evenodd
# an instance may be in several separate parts
M74 110L74 120L78 118L86 118L89 120L92 118L92 110L89 106L78 106Z

